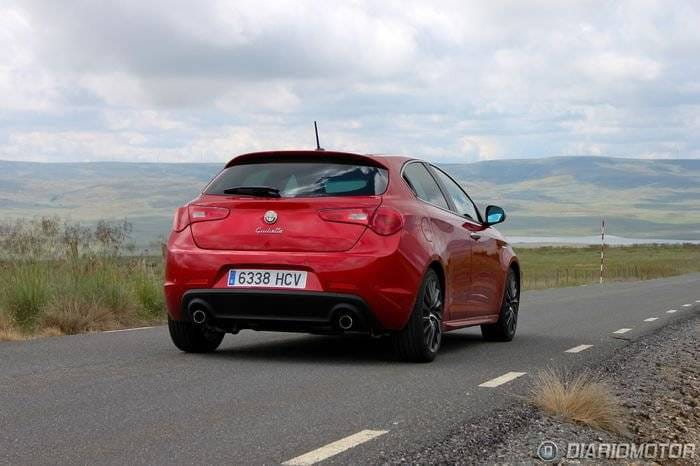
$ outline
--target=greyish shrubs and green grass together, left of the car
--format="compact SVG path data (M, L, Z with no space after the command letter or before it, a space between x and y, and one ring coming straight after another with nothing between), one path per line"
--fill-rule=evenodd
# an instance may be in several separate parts
M0 225L0 340L160 322L161 258L127 245L131 225L57 218Z

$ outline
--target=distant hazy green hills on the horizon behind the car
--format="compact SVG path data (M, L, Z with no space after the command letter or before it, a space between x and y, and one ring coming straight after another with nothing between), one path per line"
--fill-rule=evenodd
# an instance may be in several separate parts
M520 236L595 234L700 239L700 160L553 157L444 164L501 230ZM220 164L0 161L0 218L58 215L86 223L127 218L134 239L165 236L173 210Z

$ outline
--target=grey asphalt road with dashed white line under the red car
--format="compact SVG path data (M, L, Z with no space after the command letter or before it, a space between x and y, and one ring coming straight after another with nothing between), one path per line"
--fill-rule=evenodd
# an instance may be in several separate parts
M513 342L462 330L432 364L380 340L252 331L210 355L165 327L0 343L0 463L376 462L512 402L538 369L593 365L699 311L700 274L529 292Z

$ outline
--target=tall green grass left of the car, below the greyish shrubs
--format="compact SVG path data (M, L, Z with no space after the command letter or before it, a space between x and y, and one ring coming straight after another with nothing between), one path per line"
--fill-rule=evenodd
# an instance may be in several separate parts
M0 339L160 322L160 258L51 260L0 266Z

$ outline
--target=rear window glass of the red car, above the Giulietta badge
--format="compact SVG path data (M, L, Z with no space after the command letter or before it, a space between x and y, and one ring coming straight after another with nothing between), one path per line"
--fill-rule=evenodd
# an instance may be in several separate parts
M374 196L386 191L388 181L386 169L357 163L260 161L226 168L204 194L264 186L278 189L281 197Z

